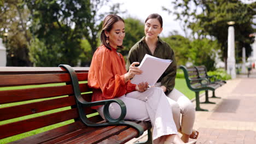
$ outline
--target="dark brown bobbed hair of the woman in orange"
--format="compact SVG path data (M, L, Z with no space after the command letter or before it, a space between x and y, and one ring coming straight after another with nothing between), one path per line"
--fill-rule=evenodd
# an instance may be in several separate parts
M108 44L106 43L107 37L104 32L105 31L110 32L111 29L113 28L114 23L118 22L118 21L124 22L124 20L120 16L115 15L115 14L107 15L103 21L102 31L101 31L101 43L104 46L106 46L107 49L109 49L109 50L111 50L111 46L109 45L109 43ZM123 48L123 45L118 46L118 47Z

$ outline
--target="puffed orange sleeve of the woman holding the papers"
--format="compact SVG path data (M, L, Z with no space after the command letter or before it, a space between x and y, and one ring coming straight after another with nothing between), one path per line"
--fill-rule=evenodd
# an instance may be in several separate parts
M134 91L135 86L124 80L124 74L114 74L113 71L123 67L117 63L117 59L109 50L98 50L92 58L88 85L92 88L100 88L102 97L112 99L121 97L127 90ZM128 89L127 89L128 88Z

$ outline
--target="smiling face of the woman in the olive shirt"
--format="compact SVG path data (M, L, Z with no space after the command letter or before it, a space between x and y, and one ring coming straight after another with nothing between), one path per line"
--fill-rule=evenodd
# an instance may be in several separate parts
M144 27L145 35L148 39L157 39L162 32L162 27L158 19L148 19Z

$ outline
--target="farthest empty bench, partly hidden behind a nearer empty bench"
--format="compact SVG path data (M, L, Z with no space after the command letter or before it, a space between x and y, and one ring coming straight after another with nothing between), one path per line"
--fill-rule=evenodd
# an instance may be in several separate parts
M205 67L205 65L199 65L199 66L195 66L197 73L199 73L199 77L200 78L206 78L208 79L209 83L217 83L220 86L225 85L226 81L224 80L220 80L217 79L217 75L208 75L207 74L207 69ZM212 92L212 97L211 98L220 98L220 97L216 97L215 92Z

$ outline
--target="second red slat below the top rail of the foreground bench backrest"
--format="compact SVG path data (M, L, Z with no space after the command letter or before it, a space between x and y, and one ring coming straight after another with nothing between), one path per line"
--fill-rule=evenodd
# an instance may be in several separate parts
M91 91L91 89L88 88L87 83L82 83L79 85L79 87L81 92ZM63 91L63 89L65 89L65 91ZM72 93L73 93L73 89L71 85L0 91L0 95L1 95L0 104L14 103L14 102L25 101L25 100L33 100L33 99L57 97L57 96L68 95Z

